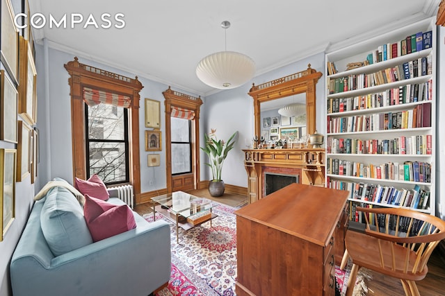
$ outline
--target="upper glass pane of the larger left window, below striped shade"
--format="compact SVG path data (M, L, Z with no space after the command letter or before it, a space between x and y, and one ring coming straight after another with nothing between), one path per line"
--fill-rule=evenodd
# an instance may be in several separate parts
M124 108L99 104L88 107L88 138L124 140Z

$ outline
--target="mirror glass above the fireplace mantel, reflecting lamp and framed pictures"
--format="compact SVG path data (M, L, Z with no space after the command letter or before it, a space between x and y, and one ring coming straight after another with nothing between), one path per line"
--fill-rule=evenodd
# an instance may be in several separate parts
M305 142L306 93L261 102L261 137L271 146L279 139L287 143Z

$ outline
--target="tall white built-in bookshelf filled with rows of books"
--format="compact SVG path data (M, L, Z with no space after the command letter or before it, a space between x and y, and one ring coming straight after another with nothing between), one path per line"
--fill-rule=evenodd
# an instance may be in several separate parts
M436 27L425 19L327 53L327 186L355 207L435 215Z

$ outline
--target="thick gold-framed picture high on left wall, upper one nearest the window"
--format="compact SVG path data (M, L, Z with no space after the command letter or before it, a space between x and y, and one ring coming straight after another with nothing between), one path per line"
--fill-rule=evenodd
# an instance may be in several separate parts
M28 40L22 36L19 37L19 40L19 114L22 115L26 123L34 125L37 115L37 72Z

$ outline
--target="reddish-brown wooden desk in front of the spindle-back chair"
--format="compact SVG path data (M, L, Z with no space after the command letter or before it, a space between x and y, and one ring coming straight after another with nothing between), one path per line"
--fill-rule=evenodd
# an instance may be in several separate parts
M291 184L236 211L236 295L335 295L334 233L347 198Z

